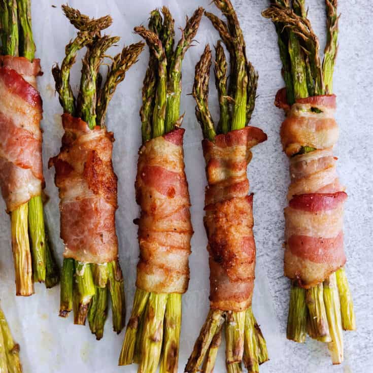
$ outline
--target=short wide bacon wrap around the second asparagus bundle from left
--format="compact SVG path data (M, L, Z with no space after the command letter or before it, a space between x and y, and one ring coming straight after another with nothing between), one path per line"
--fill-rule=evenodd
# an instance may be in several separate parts
M59 188L63 255L86 263L110 262L118 256L113 133L90 129L70 114L62 115L62 125L61 151L49 166L55 167Z

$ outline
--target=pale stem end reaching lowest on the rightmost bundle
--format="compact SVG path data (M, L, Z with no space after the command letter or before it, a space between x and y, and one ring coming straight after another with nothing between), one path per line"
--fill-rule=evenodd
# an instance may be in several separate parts
M324 281L324 301L331 337L331 342L328 343L331 360L333 364L341 364L343 362L343 331L335 272Z

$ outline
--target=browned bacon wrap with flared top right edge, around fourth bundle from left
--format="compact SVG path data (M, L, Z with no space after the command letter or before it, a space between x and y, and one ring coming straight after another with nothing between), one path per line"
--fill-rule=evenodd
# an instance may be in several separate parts
M246 169L250 148L267 139L256 127L202 141L209 185L205 227L209 239L212 309L244 311L251 305L255 277L253 194Z

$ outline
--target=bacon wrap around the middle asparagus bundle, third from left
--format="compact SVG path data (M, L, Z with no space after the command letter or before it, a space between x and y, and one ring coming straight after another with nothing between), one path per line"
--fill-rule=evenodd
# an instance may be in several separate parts
M184 293L188 288L190 221L184 172L184 129L146 142L139 150L135 182L141 207L140 261L136 286L156 293Z

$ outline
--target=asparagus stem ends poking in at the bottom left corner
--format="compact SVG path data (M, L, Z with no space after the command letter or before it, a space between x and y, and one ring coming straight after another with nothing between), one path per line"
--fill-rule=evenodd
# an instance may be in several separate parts
M7 319L0 308L0 368L2 372L22 373L22 365L19 359L19 345L13 341Z

